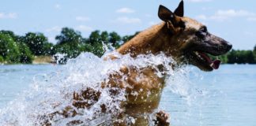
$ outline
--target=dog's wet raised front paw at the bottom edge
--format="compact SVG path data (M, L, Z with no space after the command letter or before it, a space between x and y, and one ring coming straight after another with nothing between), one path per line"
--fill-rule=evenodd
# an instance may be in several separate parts
M170 122L168 121L168 119L169 119L168 113L164 113L164 111L160 111L160 112L156 113L155 116L156 116L156 120L154 120L154 121L155 121L156 126L169 126L170 125Z

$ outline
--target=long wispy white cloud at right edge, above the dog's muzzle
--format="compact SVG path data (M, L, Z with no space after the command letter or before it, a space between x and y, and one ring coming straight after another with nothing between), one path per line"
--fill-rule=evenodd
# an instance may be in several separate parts
M254 20L256 18L255 13L248 12L247 10L235 10L235 9L227 9L227 10L217 10L212 16L198 15L196 19L198 20L232 20L235 17L244 17L247 20Z

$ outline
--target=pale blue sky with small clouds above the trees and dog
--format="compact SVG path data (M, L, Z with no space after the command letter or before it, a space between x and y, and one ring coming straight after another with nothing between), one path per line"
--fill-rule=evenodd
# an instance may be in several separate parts
M61 28L70 27L88 37L93 30L132 35L160 23L160 4L174 10L179 0L8 0L0 7L0 30L17 35L40 31L55 42ZM208 26L234 49L251 50L256 44L255 0L184 0L185 16Z

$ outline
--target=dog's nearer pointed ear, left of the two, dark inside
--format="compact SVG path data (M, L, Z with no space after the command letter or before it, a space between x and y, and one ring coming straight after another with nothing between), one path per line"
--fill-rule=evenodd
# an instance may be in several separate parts
M167 22L168 20L173 20L175 18L175 13L172 13L171 10L165 6L160 5L158 9L158 17Z

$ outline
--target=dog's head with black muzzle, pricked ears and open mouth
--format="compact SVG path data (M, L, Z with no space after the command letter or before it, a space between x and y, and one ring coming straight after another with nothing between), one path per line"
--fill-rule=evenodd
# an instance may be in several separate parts
M164 6L159 7L158 16L164 20L164 35L169 43L168 53L178 61L187 62L204 71L218 69L219 60L213 61L208 54L219 56L232 49L232 45L212 35L204 24L197 20L183 17L183 1L175 12Z

